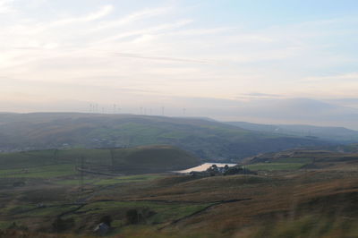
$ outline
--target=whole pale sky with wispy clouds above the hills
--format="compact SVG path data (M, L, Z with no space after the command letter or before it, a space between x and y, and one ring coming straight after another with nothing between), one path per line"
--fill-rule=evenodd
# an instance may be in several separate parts
M354 0L0 0L0 111L358 129L356 42Z

